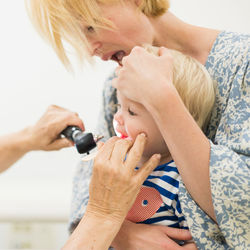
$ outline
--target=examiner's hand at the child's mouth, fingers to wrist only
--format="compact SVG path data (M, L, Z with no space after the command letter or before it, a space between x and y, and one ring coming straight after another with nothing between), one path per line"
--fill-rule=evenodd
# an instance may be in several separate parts
M94 160L86 214L94 213L119 222L124 220L142 183L160 160L160 155L153 155L135 170L145 143L145 135L140 134L134 145L129 139L113 137L99 148Z

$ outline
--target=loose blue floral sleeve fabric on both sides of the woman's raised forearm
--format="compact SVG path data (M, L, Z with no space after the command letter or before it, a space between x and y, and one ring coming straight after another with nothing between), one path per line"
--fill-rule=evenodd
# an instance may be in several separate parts
M249 156L210 141L215 223L180 183L180 201L198 249L250 249Z

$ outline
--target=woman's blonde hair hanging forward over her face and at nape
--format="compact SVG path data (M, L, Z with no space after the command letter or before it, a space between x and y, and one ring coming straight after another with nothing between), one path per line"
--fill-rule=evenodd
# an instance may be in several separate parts
M66 43L82 61L90 59L83 21L94 28L114 28L103 18L99 4L125 3L131 0L26 0L29 16L39 33L52 45L65 66L70 66ZM169 0L140 0L139 9L147 16L157 17L169 8Z

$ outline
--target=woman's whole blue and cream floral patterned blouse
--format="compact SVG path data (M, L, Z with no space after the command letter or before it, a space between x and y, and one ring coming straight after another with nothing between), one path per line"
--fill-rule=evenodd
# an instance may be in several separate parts
M210 139L210 182L218 224L192 200L180 182L179 199L199 249L250 249L250 35L221 32L206 68L217 82L216 101L207 130ZM97 132L115 135L116 92L111 76L104 85ZM92 162L81 162L74 178L70 217L72 231L88 202Z

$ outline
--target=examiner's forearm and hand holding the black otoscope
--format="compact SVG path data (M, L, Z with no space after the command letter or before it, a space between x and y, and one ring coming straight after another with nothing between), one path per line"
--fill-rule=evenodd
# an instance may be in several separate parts
M72 146L69 140L59 137L62 130L69 125L84 129L76 113L52 105L35 125L0 137L0 172L9 168L29 151L59 150Z

